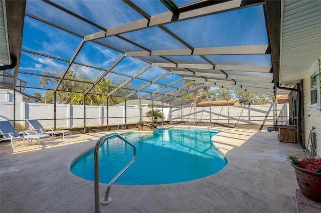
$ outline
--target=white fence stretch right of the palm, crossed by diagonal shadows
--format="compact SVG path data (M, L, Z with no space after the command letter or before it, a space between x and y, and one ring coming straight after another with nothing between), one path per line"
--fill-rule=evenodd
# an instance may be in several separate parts
M288 125L288 104L173 108L171 121L222 124Z

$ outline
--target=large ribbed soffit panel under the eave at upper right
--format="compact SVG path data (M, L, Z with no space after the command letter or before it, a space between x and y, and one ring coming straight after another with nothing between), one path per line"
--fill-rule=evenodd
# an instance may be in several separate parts
M321 1L282 3L280 82L298 82L321 56Z

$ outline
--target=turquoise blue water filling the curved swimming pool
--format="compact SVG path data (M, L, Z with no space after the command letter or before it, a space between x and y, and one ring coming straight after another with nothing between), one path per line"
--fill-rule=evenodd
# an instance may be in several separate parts
M157 129L153 135L124 134L136 146L136 159L115 181L120 185L151 185L184 182L209 176L227 164L212 144L218 132L199 129ZM132 159L133 148L112 138L98 150L99 182L109 181ZM70 171L94 180L93 149L77 158Z

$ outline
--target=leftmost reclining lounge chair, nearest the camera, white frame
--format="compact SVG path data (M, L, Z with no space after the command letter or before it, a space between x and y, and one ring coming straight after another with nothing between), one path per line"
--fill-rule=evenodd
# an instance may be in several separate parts
M26 131L24 135L20 135L18 131L15 129L15 127L7 120L0 121L0 132L6 140L11 140L10 145L12 146L12 148L14 148L14 140L19 140L19 139L24 139L24 140L28 139L29 144L30 144L29 139L31 140L31 143L33 138L38 139L39 147L40 147L40 140L42 139L49 138L51 143L51 136L48 134L33 135L33 134L30 134L28 131Z

